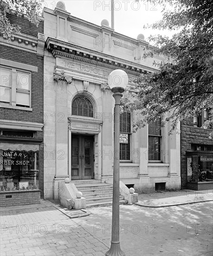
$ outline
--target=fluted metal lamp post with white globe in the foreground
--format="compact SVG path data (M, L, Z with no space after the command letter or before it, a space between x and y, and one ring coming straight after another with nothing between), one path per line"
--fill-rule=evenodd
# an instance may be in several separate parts
M119 241L119 181L120 181L120 102L124 89L128 85L128 75L121 69L112 71L108 84L115 98L115 135L114 135L114 166L113 166L113 195L112 195L112 237L110 249L105 256L125 256Z

